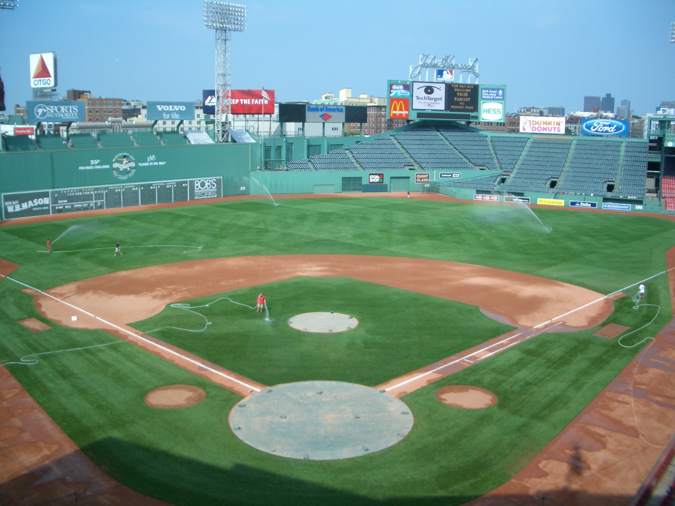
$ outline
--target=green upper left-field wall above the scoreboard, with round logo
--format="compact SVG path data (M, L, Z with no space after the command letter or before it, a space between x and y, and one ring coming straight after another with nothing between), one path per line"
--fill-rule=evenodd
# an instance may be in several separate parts
M0 194L222 177L223 196L240 195L259 165L258 144L3 152Z

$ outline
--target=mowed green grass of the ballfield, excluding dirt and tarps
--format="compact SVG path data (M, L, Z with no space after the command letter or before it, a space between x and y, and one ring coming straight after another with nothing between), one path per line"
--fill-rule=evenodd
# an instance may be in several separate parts
M12 277L41 289L93 275L198 258L347 253L468 262L610 293L663 271L665 252L675 244L675 223L663 219L537 209L535 213L545 225L553 228L548 234L525 213L529 211L504 206L389 198L283 200L277 208L259 201L225 202L1 227L0 257L22 266ZM128 250L124 257L114 258L113 250L35 252L45 249L48 237L57 237L75 223L84 226L64 235L55 249L113 246L116 240L123 248L131 244L184 244L204 249L182 254L182 250L148 248ZM336 290L329 281L345 283L345 289ZM357 285L369 288L358 289ZM287 297L277 298L277 289ZM463 345L453 339L428 342L423 333L436 333L449 325L472 327L468 325L471 322L479 322L481 327L475 334L466 331L462 335L467 344L471 339L483 339L480 332L502 333L499 324L477 314L475 308L383 287L378 293L389 306L393 304L397 313L404 312L406 320L414 317L398 328L385 316L391 307L381 311L359 307L373 289L369 283L346 279L268 285L265 290L273 295L269 298L271 316L278 320L267 329L276 328L283 334L276 342L276 333L247 336L247 331L260 328L254 327L260 322L238 316L234 306L215 306L209 314L213 329L200 335L232 339L232 343L211 348L206 339L189 343L188 337L180 335L159 337L184 339L186 347L203 350L202 356L210 353L209 360L223 361L225 366L234 363L228 362L229 352L246 358L262 356L259 362L242 360L230 368L263 383L274 383L282 376L290 381L309 376L316 379L315 375L324 373L346 377L348 373L340 371L340 364L361 360L360 381L374 384L380 381L375 369L384 362L396 364L387 372L394 373L396 368L423 362L441 351L441 357L433 360L446 356L446 346L451 354L454 345ZM246 290L237 295L249 297ZM0 297L1 362L48 349L115 341L103 331L66 329L48 322L38 314L32 298L7 280L0 282ZM296 313L293 301L302 308L297 312L302 312L310 307L318 310L315 304L319 298L331 305L342 304L329 310L348 308L345 312L354 316L360 311L367 315L362 318L362 328L344 334L348 344L324 341L337 356L335 364L316 362L322 354L321 338L291 337L284 327L286 314ZM650 327L626 339L628 344L654 335L672 316L665 276L647 283L646 302L659 304L661 314ZM615 305L607 322L635 328L653 316L654 308L633 310L628 298ZM47 321L53 329L32 333L16 323L29 316ZM169 310L155 318L159 321L165 316L170 316ZM225 322L235 317L238 325L227 327ZM198 322L199 318L194 318L196 321L186 323ZM457 320L451 321L454 318ZM227 426L227 412L240 397L128 343L52 354L41 357L34 366L8 367L111 476L173 503L452 505L481 495L518 472L640 349L624 349L617 339L593 337L593 330L540 335L406 395L402 400L415 417L410 435L383 451L344 461L294 461L248 447ZM389 351L388 360L377 358L379 353L387 354L383 348L388 335L396 337L394 342L404 352ZM239 339L248 341L234 342ZM372 343L377 346L369 349ZM301 356L289 352L284 357L287 345ZM406 356L406 348L412 350L411 356ZM374 370L368 371L371 356ZM296 362L287 364L286 358ZM242 369L247 367L250 370ZM149 390L173 383L202 387L207 399L181 410L155 410L143 403ZM452 384L488 389L499 401L485 410L459 410L436 401L436 389Z

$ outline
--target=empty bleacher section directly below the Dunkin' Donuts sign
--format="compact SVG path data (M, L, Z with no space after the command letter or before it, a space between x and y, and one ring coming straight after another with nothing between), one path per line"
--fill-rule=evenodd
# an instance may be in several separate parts
M504 192L541 192L549 190L551 178L560 177L571 140L533 138L520 167L497 190Z

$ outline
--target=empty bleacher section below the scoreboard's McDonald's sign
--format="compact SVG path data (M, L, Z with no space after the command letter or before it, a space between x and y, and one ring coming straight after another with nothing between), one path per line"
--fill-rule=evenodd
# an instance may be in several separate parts
M410 156L415 159L422 169L428 171L467 171L474 169L472 165L466 163L466 160L464 160L452 146L448 146L448 143L441 138L435 128L425 126L410 128L408 130L397 132L394 134L394 137L404 148L406 148L406 151L410 153ZM389 140L389 142L391 142L396 150L400 152L400 149L398 149L398 146L396 146L394 142L391 140ZM365 146L367 144L370 143L367 142L359 145ZM354 152L354 150L352 150L352 152ZM354 154L354 157L356 157L356 154ZM356 159L360 163L358 157ZM404 163L405 162L409 162L408 159L404 158ZM364 166L363 168L365 169L366 167ZM398 167L392 168L401 169L402 167L399 165Z

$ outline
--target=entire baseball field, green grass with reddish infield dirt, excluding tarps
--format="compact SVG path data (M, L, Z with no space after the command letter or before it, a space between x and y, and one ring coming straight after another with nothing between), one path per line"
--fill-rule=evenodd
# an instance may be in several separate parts
M659 217L424 198L16 221L0 227L0 258L19 266L0 281L0 362L101 470L160 501L456 505L516 476L670 321L673 246ZM289 325L311 312L358 325ZM593 335L608 324L625 329ZM249 395L313 381L376 387L412 428L351 458L288 458L228 421ZM205 395L148 403L169 385ZM493 400L448 405L438 391L453 385ZM20 433L0 415L11 447Z

